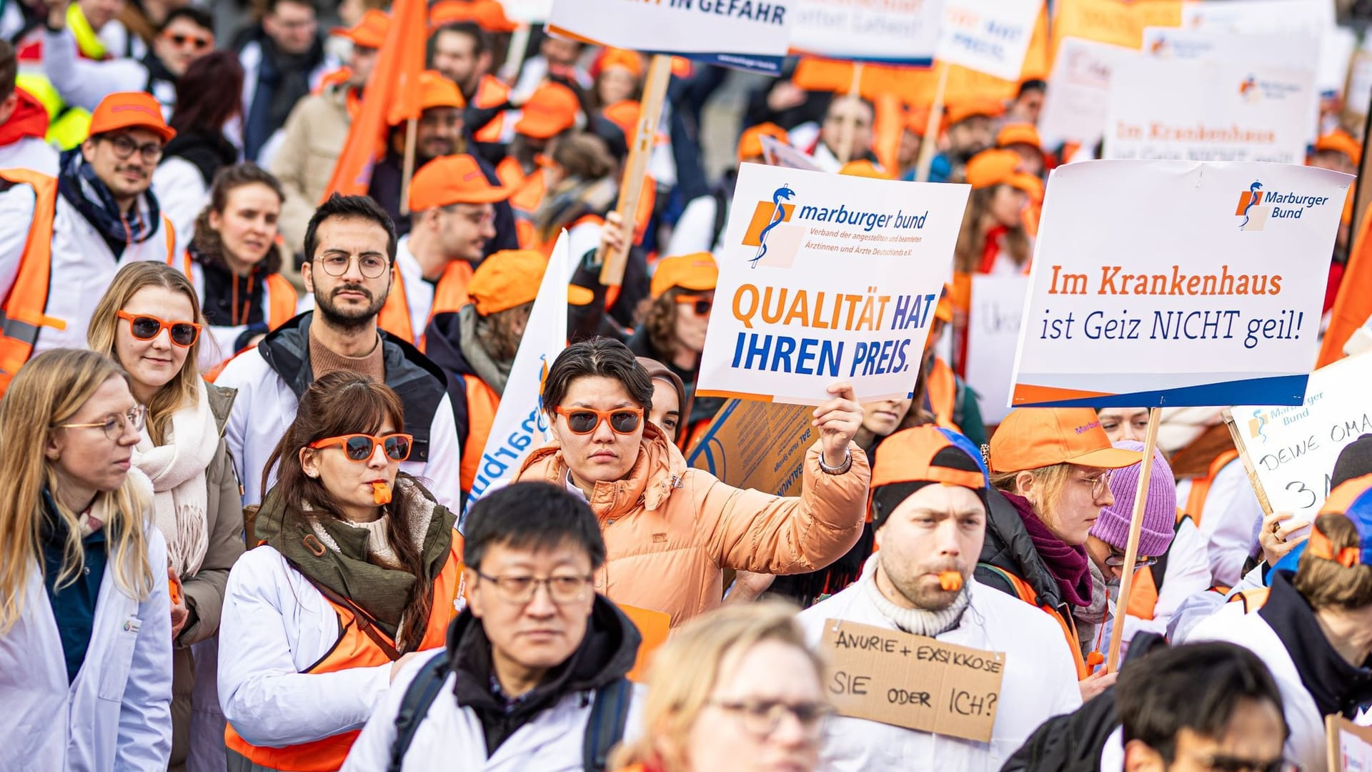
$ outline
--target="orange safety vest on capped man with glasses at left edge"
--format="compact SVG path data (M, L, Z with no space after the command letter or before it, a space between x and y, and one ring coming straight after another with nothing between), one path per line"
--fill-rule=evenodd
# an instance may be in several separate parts
M10 387L19 368L33 356L43 327L66 330L64 319L48 316L48 293L52 280L52 220L58 213L58 180L30 169L0 169L0 180L33 188L33 223L19 257L10 295L0 305L0 394ZM167 265L176 261L176 231L162 217L166 236ZM189 268L189 262L187 264Z

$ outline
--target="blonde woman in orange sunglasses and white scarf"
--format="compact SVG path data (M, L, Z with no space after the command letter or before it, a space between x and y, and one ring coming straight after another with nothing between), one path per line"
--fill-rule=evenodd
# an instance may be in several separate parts
M170 769L184 768L191 753L224 768L214 636L229 569L243 554L240 488L222 438L235 391L200 378L203 326L184 273L161 262L130 262L110 283L86 332L92 350L128 371L134 398L147 407L133 464L152 481L154 519L167 544Z

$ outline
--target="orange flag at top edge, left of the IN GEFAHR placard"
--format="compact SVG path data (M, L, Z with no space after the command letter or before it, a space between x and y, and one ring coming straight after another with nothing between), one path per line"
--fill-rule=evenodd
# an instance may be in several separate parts
M333 168L324 199L339 192L362 195L372 181L372 166L384 148L388 125L420 117L420 73L425 49L424 0L395 0L391 26L376 59L376 69L362 92L362 110L353 118L347 141Z

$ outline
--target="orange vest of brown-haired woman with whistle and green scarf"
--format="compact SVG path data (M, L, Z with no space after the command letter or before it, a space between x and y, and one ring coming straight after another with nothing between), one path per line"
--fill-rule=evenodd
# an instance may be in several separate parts
M445 646L447 626L453 621L453 617L457 615L456 603L462 596L462 537L454 533L447 563L443 565L443 570L434 580L434 606L432 611L429 611L428 626L424 629L424 640L420 642L416 651ZM364 625L370 625L370 620L358 617L351 609L333 602L328 596L325 596L325 600L338 613L342 633L333 648L318 662L306 668L305 673L338 673L354 668L376 668L394 661L372 640L370 635L364 632ZM372 626L370 633L387 640L394 648L394 642L388 640L384 632ZM239 756L269 769L333 772L343 767L343 760L347 758L347 751L353 747L359 734L362 734L361 729L353 729L309 743L287 747L265 747L248 745L233 729L233 724L229 724L224 729L224 742Z

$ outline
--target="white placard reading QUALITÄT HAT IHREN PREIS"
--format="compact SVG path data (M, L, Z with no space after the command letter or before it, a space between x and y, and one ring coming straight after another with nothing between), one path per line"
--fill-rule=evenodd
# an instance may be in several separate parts
M967 185L744 163L697 394L819 404L910 394Z

